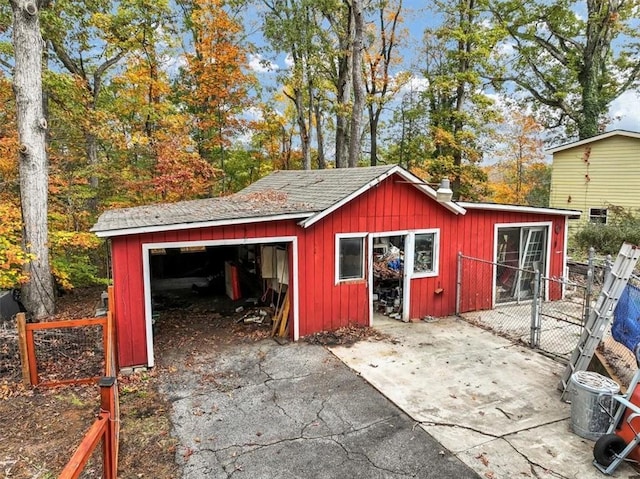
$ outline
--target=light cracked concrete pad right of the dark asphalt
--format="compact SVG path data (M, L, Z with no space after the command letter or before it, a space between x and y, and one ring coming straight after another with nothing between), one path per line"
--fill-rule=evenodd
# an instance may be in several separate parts
M389 339L331 351L482 477L603 477L569 431L562 364L456 318L374 326Z

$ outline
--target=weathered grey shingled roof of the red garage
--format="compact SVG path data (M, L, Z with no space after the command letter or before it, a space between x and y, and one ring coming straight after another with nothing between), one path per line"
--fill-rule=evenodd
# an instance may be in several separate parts
M105 211L91 231L110 237L275 219L301 219L307 227L394 173L435 198L397 165L275 171L231 196ZM464 213L455 203L445 206Z

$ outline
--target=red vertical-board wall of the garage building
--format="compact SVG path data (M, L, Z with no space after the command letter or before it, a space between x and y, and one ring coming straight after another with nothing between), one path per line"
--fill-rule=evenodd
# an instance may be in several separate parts
M446 316L456 309L458 252L492 261L496 223L543 221L553 222L551 275L561 276L564 217L487 210L468 210L460 216L397 176L386 179L307 229L290 220L114 237L112 257L120 364L147 363L142 277L144 243L297 236L299 331L305 336L352 322L368 324L369 321L367 280L335 284L335 235L338 233L439 228L439 275L411 280L409 311L411 317ZM290 273L294 281L296 275L293 271ZM475 282L463 310L491 307L491 288L490 279ZM437 294L439 289L442 292Z

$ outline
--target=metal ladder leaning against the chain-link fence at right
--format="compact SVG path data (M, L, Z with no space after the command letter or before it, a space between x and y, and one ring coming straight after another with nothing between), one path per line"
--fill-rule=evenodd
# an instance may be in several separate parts
M611 274L605 278L596 306L591 310L578 345L562 374L562 380L559 384L559 389L562 390L561 397L564 397L567 392L571 375L576 371L584 371L589 366L639 257L640 248L634 245L624 243L620 248L618 257L611 268Z

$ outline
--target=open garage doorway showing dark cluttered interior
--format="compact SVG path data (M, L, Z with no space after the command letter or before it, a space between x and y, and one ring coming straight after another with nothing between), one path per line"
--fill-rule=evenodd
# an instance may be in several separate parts
M282 334L297 334L297 324L291 324L295 298L289 280L294 242L162 244L145 249L150 366L154 342L180 341L188 347L203 334L226 342L268 337L273 321L284 317L285 304L289 321Z

